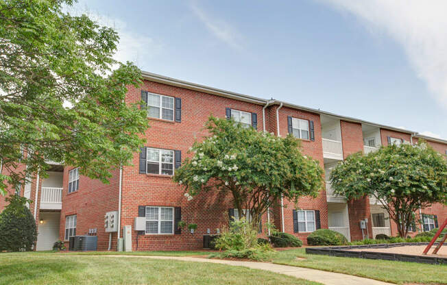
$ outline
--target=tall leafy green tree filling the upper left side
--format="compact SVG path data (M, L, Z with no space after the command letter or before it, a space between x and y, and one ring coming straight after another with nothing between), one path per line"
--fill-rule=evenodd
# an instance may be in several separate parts
M107 182L143 144L146 111L124 101L141 72L113 60L117 32L62 11L72 4L0 0L0 168L11 173L0 174L0 193L45 175L45 160Z

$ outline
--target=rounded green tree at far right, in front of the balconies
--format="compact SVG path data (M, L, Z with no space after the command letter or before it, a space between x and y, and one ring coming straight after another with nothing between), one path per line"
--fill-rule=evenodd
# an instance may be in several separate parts
M370 195L380 201L401 237L415 225L416 211L447 202L446 160L423 141L354 153L333 169L330 181L347 199Z

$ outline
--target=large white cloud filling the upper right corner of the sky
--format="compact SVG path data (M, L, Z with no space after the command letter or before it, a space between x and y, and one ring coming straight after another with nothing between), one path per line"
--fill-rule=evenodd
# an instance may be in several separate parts
M446 0L317 0L357 16L402 45L413 69L447 108Z

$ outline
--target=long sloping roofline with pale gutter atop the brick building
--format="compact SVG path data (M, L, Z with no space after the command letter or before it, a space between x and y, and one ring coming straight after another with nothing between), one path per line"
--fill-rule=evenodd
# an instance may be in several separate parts
M426 140L434 140L440 143L446 143L447 144L447 140L441 139L441 138L431 138L429 136L423 136L421 134L419 134L418 132L415 131L411 131L409 129L400 129L398 127L391 127L389 125L381 125L378 123L372 123L370 121L363 121L361 119L356 119L356 118L352 118L350 116L341 116L339 114L335 114L335 113L331 113L331 112L326 112L326 111L322 111L322 110L317 110L317 109L313 109L313 108L308 108L308 107L304 107L304 106L299 106L299 105L295 105L292 103L287 103L285 101L279 101L279 100L273 100L274 102L271 102L271 99L263 99L260 97L254 97L254 96L250 96L250 95L244 95L241 93L237 93L237 92L232 92L232 91L228 91L228 90L223 90L223 89L219 89L219 88L214 88L214 87L210 87L210 86L205 86L202 84L197 84L197 83L193 83L193 82L186 82L180 79L176 79L176 78L172 78L172 77L167 77L164 75L159 75L156 73L150 73L147 71L141 71L141 75L143 75L143 78L148 79L152 82L158 82L158 83L162 83L162 84L168 84L171 86L177 86L177 87L181 87L181 88L186 88L186 89L190 89L190 90L195 90L195 91L199 91L199 92L204 92L207 94L211 94L211 95L217 95L217 96L221 96L221 97L226 97L226 98L231 98L231 99L237 99L239 101L245 101L245 102L249 102L249 103L255 103L258 105L266 105L267 103L273 103L273 104L280 104L282 103L283 106L285 107L289 107L289 108L293 108L293 109L298 109L298 110L304 110L304 111L308 111L308 112L313 112L316 114L322 114L325 116L331 116L337 119L341 119L343 121L348 121L348 122L352 122L352 123L362 123L362 124L367 124L367 125L374 125L376 127L380 127L382 129L390 129L392 131L396 131L396 132L401 132L401 133L405 133L405 134L412 134L413 136L416 137L420 137L420 138L424 138Z

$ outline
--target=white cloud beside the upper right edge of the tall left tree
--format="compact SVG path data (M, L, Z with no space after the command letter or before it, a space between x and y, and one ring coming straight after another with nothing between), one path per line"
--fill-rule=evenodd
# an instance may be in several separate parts
M117 52L113 58L119 62L134 62L140 68L147 67L149 59L160 53L162 43L154 40L149 36L138 34L128 27L125 21L120 18L112 18L99 12L91 12L85 8L80 8L80 4L67 7L65 10L70 14L80 15L86 14L99 25L112 27L119 35L119 43Z

